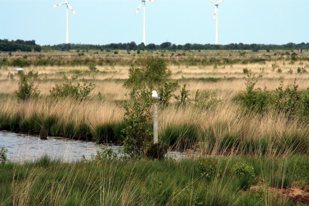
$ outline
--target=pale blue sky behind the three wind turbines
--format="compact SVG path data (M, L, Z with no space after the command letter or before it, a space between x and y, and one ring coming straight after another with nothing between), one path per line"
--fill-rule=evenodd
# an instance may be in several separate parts
M66 40L65 0L0 0L0 39L61 44ZM70 43L142 42L139 0L69 0ZM308 0L225 0L219 5L219 44L286 44L309 41ZM146 2L147 44L214 44L210 0Z

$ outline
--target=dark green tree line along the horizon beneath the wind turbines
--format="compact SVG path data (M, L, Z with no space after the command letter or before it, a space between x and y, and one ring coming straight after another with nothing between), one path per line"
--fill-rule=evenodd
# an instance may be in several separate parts
M136 44L134 41L129 43L112 43L112 44L57 44L57 45L44 45L40 46L36 44L35 40L0 40L0 51L3 52L40 52L43 50L291 50L309 49L309 43L288 43L288 44L226 44L226 45L215 45L215 44L172 44L171 42L163 42L162 44L147 44L144 43Z

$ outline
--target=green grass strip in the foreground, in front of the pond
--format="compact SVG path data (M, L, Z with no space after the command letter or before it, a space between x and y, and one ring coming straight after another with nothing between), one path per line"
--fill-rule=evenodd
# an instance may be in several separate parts
M62 163L47 156L0 165L0 204L12 205L293 205L288 198L241 189L243 179L231 167L254 167L255 186L286 188L308 182L309 157L231 157L216 159L206 178L197 160ZM275 174L275 175L274 175ZM288 177L288 178L286 178ZM275 183L275 184L273 184Z

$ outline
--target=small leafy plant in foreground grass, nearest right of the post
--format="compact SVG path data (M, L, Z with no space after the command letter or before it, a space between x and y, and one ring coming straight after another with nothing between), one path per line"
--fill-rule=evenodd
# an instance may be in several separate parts
M215 158L205 158L198 161L198 169L201 175L206 179L211 179L216 176L218 162Z

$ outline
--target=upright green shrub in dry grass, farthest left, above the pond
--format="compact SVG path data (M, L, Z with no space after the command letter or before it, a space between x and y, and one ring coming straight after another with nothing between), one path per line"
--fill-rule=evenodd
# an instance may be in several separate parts
M29 73L28 73L29 74ZM34 82L30 80L29 76L20 73L20 81L18 83L18 90L15 90L15 95L19 100L27 100L29 98L37 98L40 95L38 86L34 86Z

